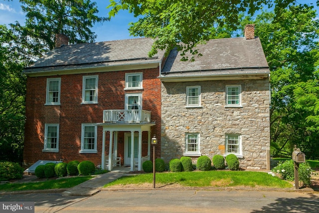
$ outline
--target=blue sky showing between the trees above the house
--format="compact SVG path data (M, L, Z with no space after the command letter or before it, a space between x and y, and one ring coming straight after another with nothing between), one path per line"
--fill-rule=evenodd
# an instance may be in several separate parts
M109 4L109 0L96 0L99 9L100 16L108 16L106 9ZM299 3L313 3L316 6L316 0L297 0ZM21 10L19 0L0 0L0 24L9 24L14 21L24 23L25 16ZM317 14L318 14L318 7ZM128 11L120 11L115 17L112 17L110 21L106 21L103 24L96 24L92 31L97 34L96 41L109 41L133 38L130 36L128 30L129 23L137 21L132 14Z

